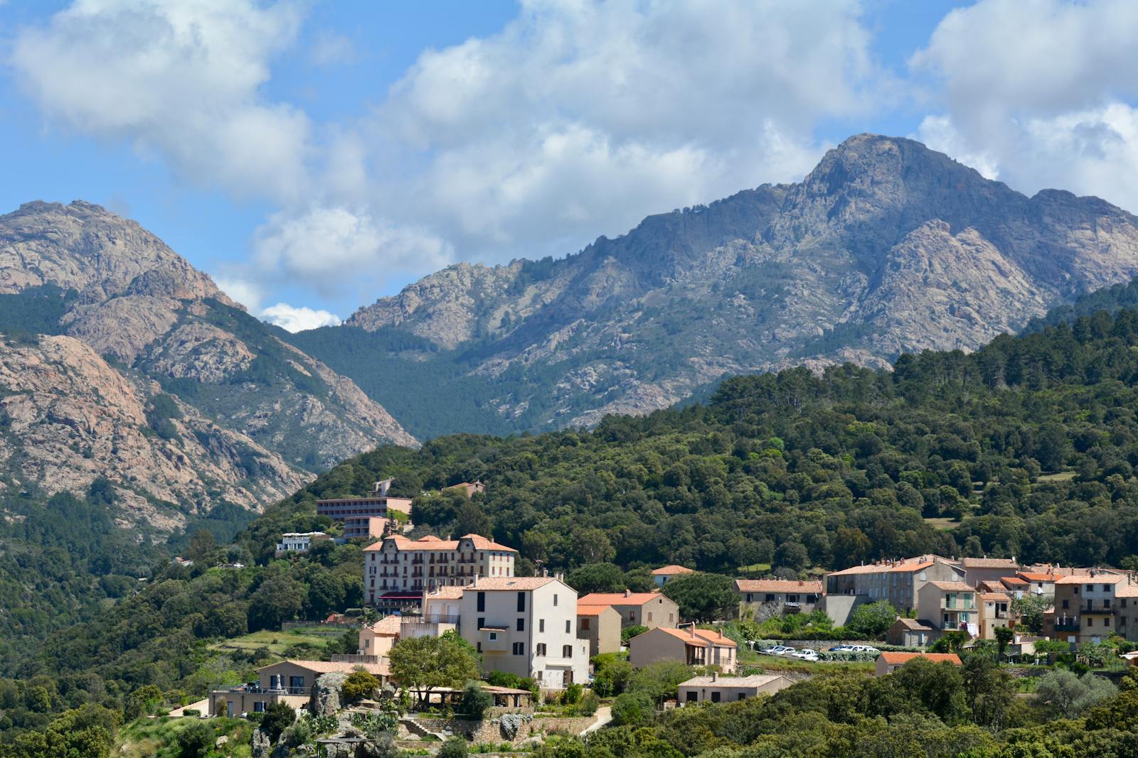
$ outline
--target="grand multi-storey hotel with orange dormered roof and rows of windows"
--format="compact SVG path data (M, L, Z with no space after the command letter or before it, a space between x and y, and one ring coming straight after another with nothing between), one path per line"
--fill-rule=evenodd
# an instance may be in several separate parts
M518 556L513 548L479 534L457 540L395 534L368 545L363 553L364 597L368 605L380 608L405 608L418 603L423 591L467 586L478 576L513 576Z

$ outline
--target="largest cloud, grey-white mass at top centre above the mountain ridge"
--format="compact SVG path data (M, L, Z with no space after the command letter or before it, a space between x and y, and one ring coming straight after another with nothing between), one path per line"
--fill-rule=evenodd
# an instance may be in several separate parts
M800 178L825 147L814 126L889 90L858 3L823 5L523 2L391 88L368 132L394 167L374 194L501 259Z

